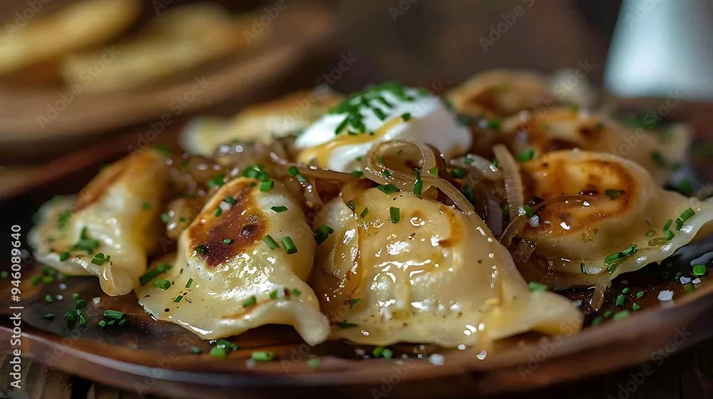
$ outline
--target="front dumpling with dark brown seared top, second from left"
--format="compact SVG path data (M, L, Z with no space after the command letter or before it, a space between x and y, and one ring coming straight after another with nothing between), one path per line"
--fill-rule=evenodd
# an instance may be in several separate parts
M156 278L170 285L140 286L140 304L205 339L288 324L310 345L324 341L329 322L304 282L312 231L282 183L272 185L240 177L220 187L181 234L173 267Z

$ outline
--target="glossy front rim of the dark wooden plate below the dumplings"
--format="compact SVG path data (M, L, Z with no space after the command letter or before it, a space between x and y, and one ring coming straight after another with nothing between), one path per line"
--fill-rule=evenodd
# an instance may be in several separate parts
M605 373L617 368L647 361L654 351L665 346L681 331L698 331L694 338L684 341L675 348L680 351L704 338L713 336L713 321L704 317L713 309L713 286L707 286L693 294L683 296L670 307L660 307L637 312L629 318L606 323L602 326L585 328L575 336L550 338L549 343L530 343L523 347L508 348L500 353L478 360L480 351L471 348L466 351L443 353L445 363L434 366L424 359L411 358L409 373L403 380L436 380L453 375L464 375L478 381L481 391L505 392L525 390L563 382L587 375ZM0 327L4 335L11 333L6 326ZM61 371L78 374L102 383L131 389L131 377L144 377L165 382L213 387L238 386L328 386L379 384L384 375L394 373L394 363L399 360L367 359L348 360L325 356L322 365L309 369L302 364L294 371L286 373L280 361L258 363L249 368L243 358L216 359L201 354L201 368L204 371L190 371L190 364L196 355L178 355L179 361L168 367L158 364L158 353L138 353L128 348L117 350L108 343L78 339L81 350L73 345L63 345L53 340L53 336L34 328L24 332L23 352L36 361ZM56 337L54 337L56 338ZM8 351L9 340L2 341L2 349ZM548 350L547 348L551 348ZM633 348L633 349L632 349ZM114 358L101 353L111 349ZM61 361L48 362L43 354L55 351L61 353ZM593 356L588 358L588 356ZM605 356L606 361L601 360ZM128 361L132 358L134 363ZM541 358L541 360L540 360ZM536 364L528 362L535 359ZM288 360L289 361L289 360ZM403 361L403 360L402 360ZM401 363L403 364L403 363ZM195 370L195 364L193 364ZM113 371L101 373L99 371ZM122 373L117 378L116 371ZM557 371L556 376L552 374ZM525 373L523 375L523 373ZM159 375L160 377L156 377ZM111 377L110 377L111 376ZM157 392L160 393L160 392Z

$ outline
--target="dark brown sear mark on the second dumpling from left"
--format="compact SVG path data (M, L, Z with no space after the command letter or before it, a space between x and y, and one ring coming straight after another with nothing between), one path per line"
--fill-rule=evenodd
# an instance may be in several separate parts
M205 259L206 266L222 264L225 259L242 254L265 237L268 222L252 195L253 190L258 190L257 186L250 187L255 182L257 180L242 179L230 186L230 191L224 191L221 195L232 196L235 204L218 216L214 214L215 209L205 209L198 215L200 222L188 228L190 250L195 251L199 246L204 246L197 254ZM219 204L217 202L215 207ZM230 242L225 242L226 239Z

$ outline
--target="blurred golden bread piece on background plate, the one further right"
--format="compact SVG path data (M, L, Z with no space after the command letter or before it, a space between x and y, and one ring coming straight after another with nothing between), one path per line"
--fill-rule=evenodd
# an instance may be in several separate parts
M111 62L105 62L106 49L71 54L61 61L61 75L88 91L153 83L254 45L264 36L245 34L252 21L251 14L232 16L217 4L168 9L133 37L111 45ZM86 71L94 71L91 78Z

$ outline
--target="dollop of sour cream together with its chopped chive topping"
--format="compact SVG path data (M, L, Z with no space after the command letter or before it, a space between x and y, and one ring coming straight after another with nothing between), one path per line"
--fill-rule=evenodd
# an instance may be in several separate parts
M294 144L299 162L352 172L374 143L389 140L431 144L451 158L468 150L471 133L436 95L387 82L350 95Z

